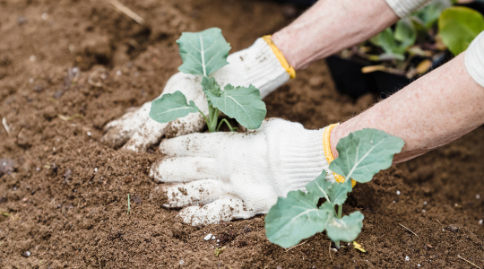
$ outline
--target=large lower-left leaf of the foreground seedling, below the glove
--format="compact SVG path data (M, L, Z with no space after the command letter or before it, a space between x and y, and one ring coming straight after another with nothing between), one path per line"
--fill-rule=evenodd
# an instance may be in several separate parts
M265 216L265 235L281 247L293 247L302 239L322 232L333 212L316 207L319 195L291 191L287 198L278 198Z

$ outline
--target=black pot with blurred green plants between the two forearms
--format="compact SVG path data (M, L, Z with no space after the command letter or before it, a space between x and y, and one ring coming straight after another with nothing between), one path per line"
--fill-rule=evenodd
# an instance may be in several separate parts
M484 30L482 3L436 0L327 64L339 91L353 97L398 91L465 50ZM382 94L383 93L383 94Z

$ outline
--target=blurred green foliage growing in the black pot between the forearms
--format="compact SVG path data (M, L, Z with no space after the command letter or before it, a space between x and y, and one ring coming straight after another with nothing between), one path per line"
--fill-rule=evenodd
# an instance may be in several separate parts
M469 47L472 39L484 30L484 17L481 13L468 7L452 6L450 0L436 0L370 39L384 53L368 58L374 61L403 61L407 58L406 53L410 56L428 56L414 46L419 40L427 38L428 32L434 30L436 22L439 38L454 55ZM402 63L397 65L400 65L397 68L406 66Z

